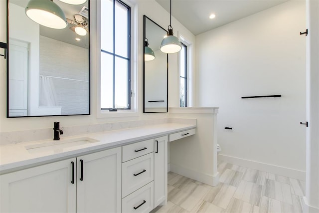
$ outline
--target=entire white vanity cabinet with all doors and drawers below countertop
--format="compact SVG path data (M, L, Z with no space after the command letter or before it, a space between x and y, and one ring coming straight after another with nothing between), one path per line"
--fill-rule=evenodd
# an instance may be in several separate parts
M167 142L193 134L85 155L83 149L74 158L0 175L0 212L149 213L167 203Z

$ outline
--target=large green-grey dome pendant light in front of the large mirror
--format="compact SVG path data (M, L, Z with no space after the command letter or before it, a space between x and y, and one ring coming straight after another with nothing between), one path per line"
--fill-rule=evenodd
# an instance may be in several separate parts
M25 14L43 26L54 29L63 29L67 26L64 12L53 0L29 0Z

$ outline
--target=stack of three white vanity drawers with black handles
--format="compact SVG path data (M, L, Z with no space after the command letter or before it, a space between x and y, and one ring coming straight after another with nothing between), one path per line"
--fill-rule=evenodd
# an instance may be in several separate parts
M154 139L122 151L122 212L149 213L154 209Z

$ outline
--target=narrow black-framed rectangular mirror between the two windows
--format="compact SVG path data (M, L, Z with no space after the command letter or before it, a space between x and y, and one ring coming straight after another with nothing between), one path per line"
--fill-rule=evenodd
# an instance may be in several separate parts
M164 28L144 15L143 112L168 112L168 54L160 51L166 34Z

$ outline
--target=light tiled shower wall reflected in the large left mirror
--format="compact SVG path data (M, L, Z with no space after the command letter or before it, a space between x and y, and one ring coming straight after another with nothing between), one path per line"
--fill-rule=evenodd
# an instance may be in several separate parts
M62 114L87 114L89 107L88 49L40 36L39 74L51 76ZM41 97L40 97L41 98Z

